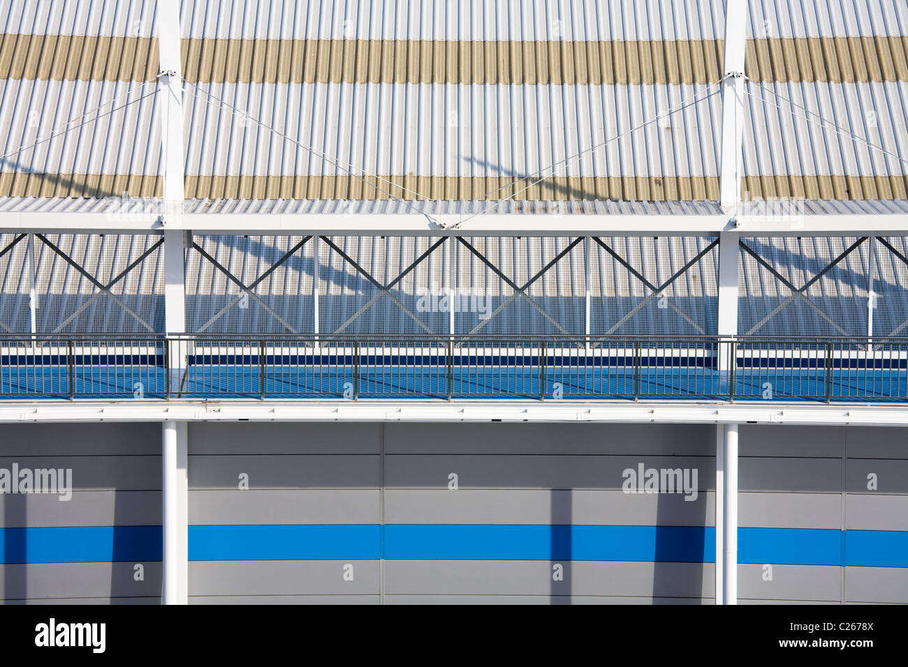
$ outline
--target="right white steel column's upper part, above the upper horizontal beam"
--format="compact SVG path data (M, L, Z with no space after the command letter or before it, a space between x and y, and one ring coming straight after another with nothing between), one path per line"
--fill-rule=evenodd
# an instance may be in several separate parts
M741 201L744 140L747 0L725 3L725 78L722 81L722 164L719 203L732 212Z

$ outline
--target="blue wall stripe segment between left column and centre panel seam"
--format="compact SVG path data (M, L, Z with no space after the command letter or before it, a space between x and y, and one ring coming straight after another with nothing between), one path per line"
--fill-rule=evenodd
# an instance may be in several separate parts
M375 560L380 525L191 525L191 561Z

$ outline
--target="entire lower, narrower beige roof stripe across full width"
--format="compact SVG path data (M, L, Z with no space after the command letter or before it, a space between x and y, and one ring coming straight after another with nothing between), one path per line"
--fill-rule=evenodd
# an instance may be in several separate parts
M392 181L396 188L387 181ZM495 176L187 176L187 199L403 200L419 191L431 200L494 201L519 192L515 201L716 201L715 176L561 177L522 191L529 181ZM500 188L500 190L498 190ZM906 176L745 176L745 199L908 199ZM489 196L488 193L492 192ZM0 172L0 196L160 197L154 175Z

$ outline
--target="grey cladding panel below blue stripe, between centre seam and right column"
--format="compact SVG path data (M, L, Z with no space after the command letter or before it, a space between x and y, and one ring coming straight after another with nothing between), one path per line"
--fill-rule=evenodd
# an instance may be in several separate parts
M711 563L564 562L564 580L553 581L555 561L388 561L386 594L618 595L710 597Z

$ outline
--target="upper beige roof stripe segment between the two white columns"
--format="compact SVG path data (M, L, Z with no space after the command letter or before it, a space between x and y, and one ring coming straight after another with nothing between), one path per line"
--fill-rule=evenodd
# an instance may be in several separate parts
M184 39L196 83L712 83L722 44Z

